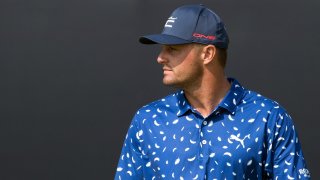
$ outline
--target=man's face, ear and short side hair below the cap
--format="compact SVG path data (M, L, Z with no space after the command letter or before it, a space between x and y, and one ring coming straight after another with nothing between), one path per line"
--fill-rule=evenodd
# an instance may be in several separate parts
M157 62L163 67L163 83L179 88L197 87L205 73L223 73L225 50L197 43L163 45Z

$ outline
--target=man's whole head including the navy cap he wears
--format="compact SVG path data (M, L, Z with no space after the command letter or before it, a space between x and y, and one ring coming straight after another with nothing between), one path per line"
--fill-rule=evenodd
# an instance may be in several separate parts
M198 82L206 68L224 68L229 38L212 10L185 5L173 11L161 34L143 36L139 41L162 45L157 61L163 65L163 82L181 87Z

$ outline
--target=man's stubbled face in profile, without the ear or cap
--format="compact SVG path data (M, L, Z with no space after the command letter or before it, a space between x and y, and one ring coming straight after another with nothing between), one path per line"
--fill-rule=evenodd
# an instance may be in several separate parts
M164 45L158 56L163 83L179 88L195 86L203 73L201 49L195 44Z

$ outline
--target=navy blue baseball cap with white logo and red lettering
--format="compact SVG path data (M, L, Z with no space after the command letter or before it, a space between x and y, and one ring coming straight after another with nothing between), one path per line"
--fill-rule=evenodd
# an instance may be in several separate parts
M161 34L139 38L142 44L212 44L227 49L229 37L220 17L204 5L184 5L175 9Z

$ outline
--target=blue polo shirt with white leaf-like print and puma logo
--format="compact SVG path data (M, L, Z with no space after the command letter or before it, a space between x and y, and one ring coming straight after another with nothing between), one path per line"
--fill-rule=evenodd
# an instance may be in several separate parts
M290 115L229 79L206 118L178 91L137 111L115 179L310 179Z

